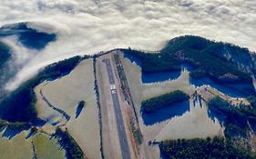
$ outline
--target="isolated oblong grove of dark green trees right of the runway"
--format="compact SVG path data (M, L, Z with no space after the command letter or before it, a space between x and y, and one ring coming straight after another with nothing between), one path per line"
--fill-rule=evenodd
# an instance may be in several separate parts
M174 91L169 94L162 94L154 98L150 98L143 101L141 104L141 110L143 112L153 112L156 109L169 106L178 102L182 102L189 99L189 95L182 91Z

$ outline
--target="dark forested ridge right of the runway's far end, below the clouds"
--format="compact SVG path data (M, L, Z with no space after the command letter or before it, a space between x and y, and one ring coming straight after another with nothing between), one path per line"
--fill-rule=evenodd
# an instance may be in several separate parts
M140 59L144 73L177 70L180 69L181 64L189 64L194 67L190 74L193 78L207 75L217 82L251 84L251 76L238 66L238 64L248 65L248 63L254 65L251 55L248 49L236 45L185 35L170 40L156 54L131 49L122 51ZM228 58L227 52L231 57Z

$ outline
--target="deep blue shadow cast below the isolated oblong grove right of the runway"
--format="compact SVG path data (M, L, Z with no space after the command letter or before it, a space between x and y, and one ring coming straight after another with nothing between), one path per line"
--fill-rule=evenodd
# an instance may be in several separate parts
M158 109L152 113L144 113L142 112L142 118L144 124L151 125L157 124L168 119L171 119L174 116L180 116L185 112L189 111L189 101L178 103L178 104L171 104L167 107Z

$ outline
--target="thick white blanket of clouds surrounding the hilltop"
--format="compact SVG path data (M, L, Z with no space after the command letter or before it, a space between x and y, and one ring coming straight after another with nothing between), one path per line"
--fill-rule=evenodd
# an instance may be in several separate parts
M6 84L8 90L64 58L117 47L155 51L179 35L200 35L256 51L255 0L1 0L0 25L18 22L55 33L57 40L36 51L15 37L5 38L16 61L23 63Z

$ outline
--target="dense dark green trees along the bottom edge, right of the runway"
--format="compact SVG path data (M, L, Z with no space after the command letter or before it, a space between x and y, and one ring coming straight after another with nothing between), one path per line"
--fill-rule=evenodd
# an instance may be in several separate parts
M169 140L159 144L160 152L166 159L252 159L252 154L242 149L237 149L224 141L223 138L210 139L182 139Z

